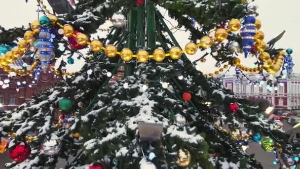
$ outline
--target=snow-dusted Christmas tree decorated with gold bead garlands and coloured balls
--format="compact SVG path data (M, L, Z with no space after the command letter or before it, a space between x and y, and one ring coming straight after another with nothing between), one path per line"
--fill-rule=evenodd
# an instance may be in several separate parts
M190 31L191 42L185 49L179 47L157 5L166 8L179 27ZM48 17L31 24L34 32L42 33L37 47L45 45L41 35L58 25L73 49L57 34L53 42L56 58L86 45L94 57L78 73L67 74L55 87L1 115L0 150L7 148L14 161L5 167L55 169L62 158L69 160L66 169L261 169L242 150L249 140L275 151L279 160L274 161L279 165L296 166L297 146L287 144L287 136L263 117L263 107L234 98L222 84L198 71L196 62L205 62L209 53L195 62L185 55L196 53L198 47L217 51L212 57L225 66L214 74L230 65L253 73L277 72L284 52L267 48L262 41L256 50L249 48L247 37L262 35L256 31L260 23L252 23L256 8L241 0L79 0L74 10L68 7L68 13L58 18L44 9ZM85 34L95 33L109 17L114 27L107 38L89 42ZM234 33L241 28L234 18L244 20L241 35L250 33L244 39ZM201 28L195 28L194 21ZM2 30L0 43L10 43L25 31ZM30 37L28 41L34 35ZM242 66L232 55L239 44L246 56L258 53L263 65ZM55 50L61 45L66 48ZM268 55L278 51L277 60ZM47 70L47 60L42 60L46 53L39 54ZM56 71L63 73L60 68Z

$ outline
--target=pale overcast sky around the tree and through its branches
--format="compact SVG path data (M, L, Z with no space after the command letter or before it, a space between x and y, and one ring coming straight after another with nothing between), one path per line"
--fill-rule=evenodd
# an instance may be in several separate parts
M36 0L1 0L0 1L0 25L4 28L19 27L21 25L27 24L38 18L37 15L37 2ZM46 2L46 0L43 0ZM284 37L276 43L277 47L288 48L291 47L294 50L293 58L296 66L294 67L295 73L300 73L296 69L299 66L300 58L300 17L299 14L299 0L256 0L259 4L259 14L258 18L262 21L261 30L265 34L265 41L269 41L273 37L280 34L283 30L286 30ZM174 23L176 25L176 23ZM183 31L177 31L175 37L180 42L182 47L188 41L188 33ZM197 53L190 57L191 60L197 59L201 53ZM254 58L242 58L242 62L245 65L250 66ZM214 67L216 61L212 58L207 57L206 64L201 64L201 71L204 73L214 72L216 69ZM82 65L82 62L77 62L76 65L69 65L67 67L70 71L75 71Z

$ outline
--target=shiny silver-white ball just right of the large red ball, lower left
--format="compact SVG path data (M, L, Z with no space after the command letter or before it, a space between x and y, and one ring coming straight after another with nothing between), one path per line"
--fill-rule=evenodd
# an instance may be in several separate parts
M40 145L40 150L48 156L58 154L61 148L62 142L57 136L52 136L50 139L45 139Z

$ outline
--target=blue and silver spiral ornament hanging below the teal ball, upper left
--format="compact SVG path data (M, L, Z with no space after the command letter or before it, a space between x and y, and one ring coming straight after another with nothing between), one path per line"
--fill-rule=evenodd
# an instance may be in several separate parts
M51 31L49 29L42 28L39 33L39 39L37 48L39 52L40 66L44 73L47 73L50 61L53 58L53 48L51 39Z

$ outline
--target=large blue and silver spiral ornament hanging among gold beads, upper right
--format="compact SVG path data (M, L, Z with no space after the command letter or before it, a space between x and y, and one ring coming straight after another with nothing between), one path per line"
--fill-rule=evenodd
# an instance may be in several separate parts
M243 28L241 29L240 34L243 39L242 45L245 58L247 58L248 53L251 51L251 47L254 44L254 36L256 34L254 15L247 15L244 18Z

